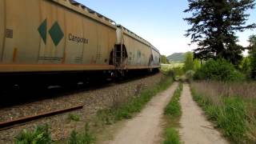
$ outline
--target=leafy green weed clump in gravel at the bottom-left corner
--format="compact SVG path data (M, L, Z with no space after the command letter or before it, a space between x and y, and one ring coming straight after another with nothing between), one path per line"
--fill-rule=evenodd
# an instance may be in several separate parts
M47 144L51 143L49 126L37 126L33 132L22 130L15 137L16 144Z

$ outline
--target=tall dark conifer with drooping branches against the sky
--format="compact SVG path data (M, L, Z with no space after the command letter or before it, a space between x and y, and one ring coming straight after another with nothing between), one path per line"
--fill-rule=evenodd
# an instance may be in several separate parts
M192 17L184 18L192 27L186 30L191 43L197 43L194 58L225 58L238 65L244 48L236 44L235 32L253 29L256 24L246 25L246 10L254 9L255 0L188 0L185 13Z

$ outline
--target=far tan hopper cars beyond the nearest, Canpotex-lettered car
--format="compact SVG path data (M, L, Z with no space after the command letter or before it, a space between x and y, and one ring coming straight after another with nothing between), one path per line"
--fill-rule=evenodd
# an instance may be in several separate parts
M118 69L158 69L160 53L150 42L121 25L118 25L117 37L116 60L117 63L121 63L118 65ZM122 55L122 58L120 58L120 55Z

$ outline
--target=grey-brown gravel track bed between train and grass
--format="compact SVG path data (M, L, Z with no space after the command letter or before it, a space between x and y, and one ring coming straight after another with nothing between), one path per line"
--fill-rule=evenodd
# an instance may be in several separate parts
M162 74L136 79L130 82L113 84L98 90L86 90L77 94L69 94L58 98L45 99L39 102L31 102L22 106L12 106L0 109L0 122L22 118L52 110L68 108L83 104L81 110L70 113L78 114L80 121L70 121L70 113L58 114L48 118L40 118L23 126L0 131L0 143L14 143L14 137L23 129L32 130L35 126L48 124L51 127L53 140L62 140L69 136L72 130L79 130L85 126L86 121L100 109L107 108L125 102L127 98L134 97L144 88L150 88L158 84Z

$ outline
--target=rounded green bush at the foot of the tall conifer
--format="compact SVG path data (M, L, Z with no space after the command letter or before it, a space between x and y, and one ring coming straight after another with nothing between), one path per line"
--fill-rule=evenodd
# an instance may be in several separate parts
M230 82L241 81L244 79L244 76L230 62L224 59L211 59L196 71L194 79Z

